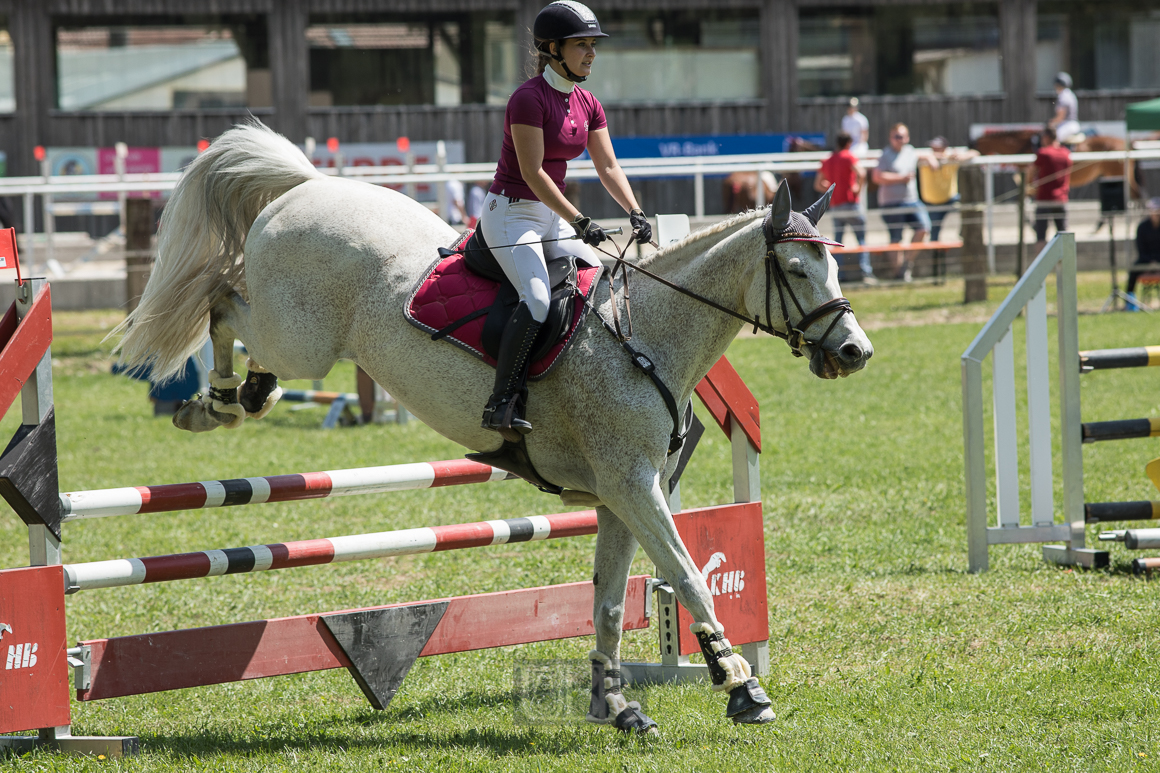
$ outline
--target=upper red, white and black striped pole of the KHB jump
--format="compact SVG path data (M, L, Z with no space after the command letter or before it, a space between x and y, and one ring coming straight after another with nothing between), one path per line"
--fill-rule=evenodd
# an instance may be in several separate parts
M60 520L68 522L85 518L169 513L202 507L231 507L267 501L298 501L409 489L436 489L467 483L510 481L515 477L498 467L457 458L447 462L271 475L261 478L73 491L60 494L60 512L64 515Z

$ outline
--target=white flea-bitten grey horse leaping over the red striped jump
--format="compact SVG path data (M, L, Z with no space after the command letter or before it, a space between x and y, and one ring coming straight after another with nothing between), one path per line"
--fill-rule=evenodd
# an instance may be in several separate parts
M767 210L746 212L639 265L740 317L760 316L769 332L789 334L818 376L846 376L865 364L872 348L853 313L843 313L849 306L840 298L836 265L812 227L825 205L807 210L809 219L791 215L782 186L764 227ZM769 234L782 238L767 244ZM347 357L440 434L476 450L495 449L500 436L479 426L491 368L456 346L433 342L403 312L436 247L455 237L422 204L326 176L256 122L237 127L189 166L165 209L148 284L118 328L123 360L151 367L155 378L171 376L202 346L208 325L211 395L174 417L179 427L200 432L237 427L247 416L237 399L242 380L233 371L235 338L249 352L251 378L266 378L267 391L275 376L322 378ZM786 305L786 297L793 303ZM606 319L614 303L603 287L594 296ZM807 316L822 306L828 311ZM744 324L639 273L632 311L631 346L647 355L682 409ZM248 416L264 416L278 393L264 405L251 400ZM653 727L618 689L625 586L639 543L696 621L713 689L730 694L726 715L745 723L773 720L769 699L730 649L712 595L673 523L666 496L677 461L669 453L672 413L593 315L559 366L530 384L528 419L535 431L527 449L541 476L568 490L566 503L596 505L588 718L641 732Z

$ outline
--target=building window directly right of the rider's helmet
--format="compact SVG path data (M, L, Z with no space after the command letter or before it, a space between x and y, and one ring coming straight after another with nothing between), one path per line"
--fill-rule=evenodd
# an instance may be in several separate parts
M760 96L756 14L602 10L600 26L585 88L602 102Z

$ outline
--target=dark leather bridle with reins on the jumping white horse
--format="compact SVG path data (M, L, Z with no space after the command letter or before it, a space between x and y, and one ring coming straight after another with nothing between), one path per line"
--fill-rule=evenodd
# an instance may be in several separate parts
M785 224L785 227L781 229L780 231L774 230L773 216L774 212L773 210L770 210L770 212L766 215L766 219L761 224L762 234L766 238L766 257L764 257L766 322L764 323L761 322L761 315L755 315L753 318L746 317L745 315L739 313L726 306L723 306L716 301L711 301L710 298L706 298L697 292L694 292L688 288L683 288L680 284L669 282L667 279L653 274L647 268L643 268L641 266L636 263L629 263L626 260L624 260L624 252L626 252L628 245L625 245L625 250L622 251L619 255L612 254L604 250L601 250L601 252L616 261L617 266L616 269L614 269L614 273L615 270L619 270L622 273L624 277L623 286L625 290L625 296L628 296L628 282L629 282L629 274L626 269L632 268L633 270L640 272L645 276L653 279L660 282L661 284L673 290L676 290L677 292L681 292L682 295L687 295L688 297L694 298L695 301L698 301L708 306L717 309L718 311L730 315L731 317L735 317L745 322L746 324L753 325L754 333L756 333L760 330L766 333L769 333L770 335L776 335L777 338L784 340L789 345L790 351L793 352L793 356L800 357L805 356L805 352L803 352L805 347L813 347L817 349L819 347L825 346L826 341L829 339L829 334L834 332L834 327L838 326L838 323L839 320L841 320L842 316L847 313L853 315L854 310L850 308L850 302L848 298L838 297L827 301L826 303L821 304L813 311L806 312L805 309L802 306L802 302L798 301L797 294L793 292L793 288L790 287L789 277L785 276L785 269L782 268L781 261L777 260L777 254L775 250L778 244L783 244L785 241L810 241L813 244L833 245L833 246L841 246L841 245L836 241L831 241L824 238L820 233L817 232L815 229L810 227L809 225L810 221L807 221L798 212L791 212L790 219ZM804 222L797 222L798 218L800 218L800 221ZM631 241L629 244L631 244ZM611 282L611 276L609 277L609 281ZM769 296L771 295L770 290L775 287L777 288L777 299L782 306L782 319L785 320L785 332L776 330L773 325L769 324L769 320L773 319L773 315L770 313ZM796 325L790 324L789 305L785 303L786 295L789 296L789 299L793 303L793 308L797 309L799 316L799 319ZM815 322L818 322L819 319L824 319L829 315L834 315L834 319L829 323L829 326L826 328L826 332L822 333L821 338L815 341L806 338L805 331L807 331L810 326L813 325ZM628 340L626 337L621 334L619 324L616 325L615 334L617 335L617 338L621 338L622 340ZM631 332L629 335L631 335Z

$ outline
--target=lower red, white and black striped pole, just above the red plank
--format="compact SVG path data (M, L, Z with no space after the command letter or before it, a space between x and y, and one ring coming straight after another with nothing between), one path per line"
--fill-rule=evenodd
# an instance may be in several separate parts
M95 561L65 565L65 592L261 572L291 566L314 566L436 550L461 550L488 544L557 540L595 533L596 511L586 510L578 513L529 515L502 521L432 526L325 540L181 552L173 556Z

